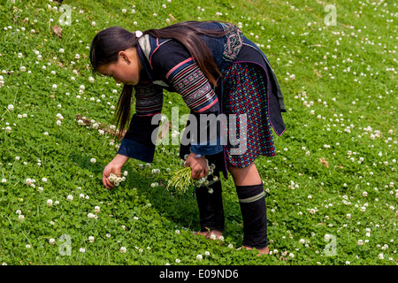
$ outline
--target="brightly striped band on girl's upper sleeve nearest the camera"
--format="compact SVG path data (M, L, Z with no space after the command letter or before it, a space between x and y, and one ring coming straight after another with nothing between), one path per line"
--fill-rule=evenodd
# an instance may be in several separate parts
M175 65L165 76L172 87L182 96L188 107L203 112L218 103L216 93L193 57Z

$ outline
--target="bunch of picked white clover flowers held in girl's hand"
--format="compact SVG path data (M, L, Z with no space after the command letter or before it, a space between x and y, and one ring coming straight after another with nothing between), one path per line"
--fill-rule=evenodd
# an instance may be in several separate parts
M185 156L185 159L187 160L188 155ZM216 169L215 164L210 164L209 165L209 160L206 159L207 163L207 168L209 170L208 176L212 175L214 172L214 169ZM186 164L186 161L181 161L182 165ZM181 193L185 193L189 187L194 186L194 187L202 187L202 186L207 186L209 184L209 180L207 180L207 176L203 177L199 180L193 180L191 178L191 173L192 169L191 167L185 167L183 169L180 169L177 172L174 172L172 175L172 178L168 181L167 184L167 189L169 187L174 187L177 191Z

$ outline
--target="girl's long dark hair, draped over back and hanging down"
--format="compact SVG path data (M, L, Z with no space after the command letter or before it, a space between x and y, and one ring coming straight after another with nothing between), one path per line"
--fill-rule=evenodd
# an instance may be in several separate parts
M203 74L213 86L217 85L217 78L221 76L210 50L202 41L199 35L223 36L227 33L223 28L209 29L204 24L213 21L185 21L160 29L149 29L142 32L142 35L149 34L157 38L172 38L181 42L195 63L199 65ZM114 63L119 59L119 51L134 48L138 38L134 33L123 27L108 27L100 31L94 37L90 47L90 61L95 72L102 65ZM116 124L119 125L119 132L122 133L130 119L131 99L133 86L124 85L115 114Z

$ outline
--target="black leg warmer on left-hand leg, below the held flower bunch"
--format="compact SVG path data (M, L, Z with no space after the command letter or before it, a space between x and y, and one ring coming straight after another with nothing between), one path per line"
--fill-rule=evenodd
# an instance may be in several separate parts
M213 181L208 178L210 185L207 187L196 187L195 195L199 207L199 217L201 219L201 231L225 230L224 209L222 200L221 181ZM212 193L211 192L212 190Z

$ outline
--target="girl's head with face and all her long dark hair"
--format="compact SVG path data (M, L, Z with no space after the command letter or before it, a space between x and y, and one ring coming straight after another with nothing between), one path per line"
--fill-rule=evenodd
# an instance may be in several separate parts
M182 43L195 59L202 72L213 86L217 85L221 73L218 70L209 48L199 35L223 36L226 31L208 29L206 22L180 22L160 29L149 29L142 34L157 38L172 38ZM130 120L130 105L133 96L133 85L140 80L142 64L137 54L138 37L123 27L108 27L94 37L90 47L90 61L95 72L112 76L124 87L115 115L116 124L122 132Z

